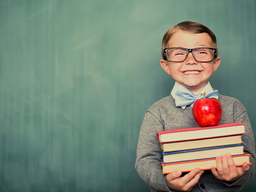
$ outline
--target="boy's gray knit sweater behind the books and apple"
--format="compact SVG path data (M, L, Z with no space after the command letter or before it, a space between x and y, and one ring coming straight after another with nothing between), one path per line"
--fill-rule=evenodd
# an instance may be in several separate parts
M235 182L223 182L213 176L210 170L205 171L192 192L235 192L240 191L243 183L252 178L255 173L255 144L251 123L245 107L235 98L220 95L219 101L223 108L220 124L246 123L247 134L242 135L244 151L251 154L250 170ZM171 190L166 185L162 174L161 149L157 141L157 131L173 130L199 126L192 115L192 108L185 109L175 106L175 100L170 95L154 103L145 113L137 146L135 168L138 175L149 185L151 192ZM183 173L185 174L185 173ZM172 191L174 192L174 191Z

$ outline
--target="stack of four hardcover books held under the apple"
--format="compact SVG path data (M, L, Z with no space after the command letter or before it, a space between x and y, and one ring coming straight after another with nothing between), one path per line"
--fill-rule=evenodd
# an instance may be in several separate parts
M232 155L236 166L250 164L241 137L245 133L244 123L158 131L163 174L195 168L209 170L216 167L216 157L226 153Z

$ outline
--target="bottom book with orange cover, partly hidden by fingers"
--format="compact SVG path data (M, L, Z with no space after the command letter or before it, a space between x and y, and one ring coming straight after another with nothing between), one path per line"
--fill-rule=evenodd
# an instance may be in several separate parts
M249 160L250 154L242 154L242 155L235 155L233 157L233 161L236 166L242 166L244 162L250 163ZM216 168L216 159L215 158L208 158L208 159L200 159L195 161L181 161L178 163L162 163L163 167L163 174L168 174L173 171L182 171L182 172L189 172L194 170L195 168L201 168L201 170L210 170L211 167L214 166Z

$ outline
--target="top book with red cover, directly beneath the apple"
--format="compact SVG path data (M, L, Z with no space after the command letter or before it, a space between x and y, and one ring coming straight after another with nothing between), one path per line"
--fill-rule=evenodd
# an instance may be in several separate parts
M245 125L244 123L225 123L217 126L157 131L157 139L160 143L164 143L240 135L246 133Z

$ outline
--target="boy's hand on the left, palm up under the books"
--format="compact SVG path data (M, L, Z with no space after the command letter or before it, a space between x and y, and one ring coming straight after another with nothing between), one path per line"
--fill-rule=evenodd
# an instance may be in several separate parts
M204 171L196 168L182 176L181 171L175 171L166 175L166 184L171 190L190 191L198 183Z

